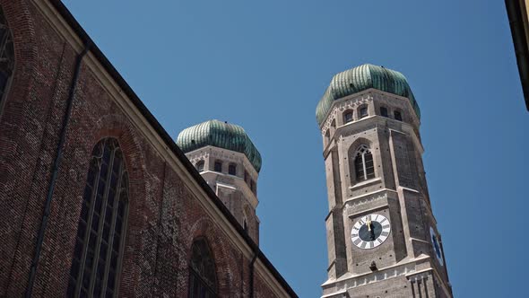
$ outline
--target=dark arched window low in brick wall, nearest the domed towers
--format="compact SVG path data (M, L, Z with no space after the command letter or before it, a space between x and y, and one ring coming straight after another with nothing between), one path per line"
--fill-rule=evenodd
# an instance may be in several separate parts
M189 262L189 298L217 296L217 277L211 250L204 238L195 240Z

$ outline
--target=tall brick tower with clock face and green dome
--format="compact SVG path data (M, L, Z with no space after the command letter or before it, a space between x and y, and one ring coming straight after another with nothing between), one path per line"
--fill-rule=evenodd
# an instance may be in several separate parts
M421 113L403 74L372 65L336 74L316 114L329 200L322 297L452 297Z

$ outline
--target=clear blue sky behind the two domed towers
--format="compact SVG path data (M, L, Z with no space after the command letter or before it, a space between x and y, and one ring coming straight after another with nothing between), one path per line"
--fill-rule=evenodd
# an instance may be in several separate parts
M301 297L326 278L317 101L338 72L402 72L456 297L526 295L529 112L501 0L65 1L165 129L239 124L263 155L261 246Z

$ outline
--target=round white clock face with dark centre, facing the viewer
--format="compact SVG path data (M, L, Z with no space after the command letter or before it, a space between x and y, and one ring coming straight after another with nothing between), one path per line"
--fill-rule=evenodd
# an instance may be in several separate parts
M391 232L389 220L384 215L366 215L352 226L351 241L362 250L376 248L386 241Z

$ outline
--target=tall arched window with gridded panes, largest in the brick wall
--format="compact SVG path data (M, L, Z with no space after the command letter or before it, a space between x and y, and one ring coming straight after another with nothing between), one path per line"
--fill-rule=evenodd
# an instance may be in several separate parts
M127 202L128 178L123 153L116 139L103 139L91 153L68 297L116 295Z

